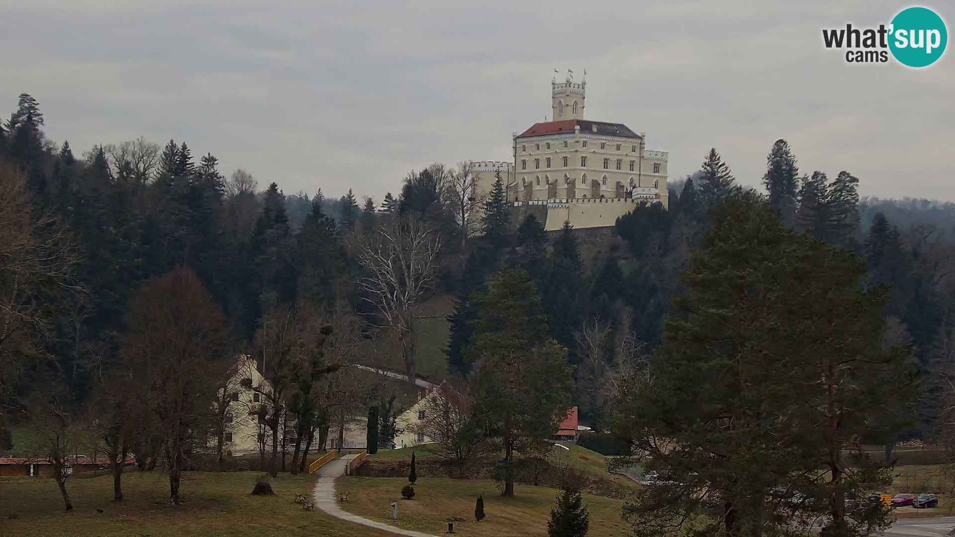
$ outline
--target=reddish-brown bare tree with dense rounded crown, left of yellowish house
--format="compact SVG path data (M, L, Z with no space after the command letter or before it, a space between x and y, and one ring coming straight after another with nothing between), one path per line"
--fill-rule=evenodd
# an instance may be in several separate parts
M122 352L159 422L169 500L177 505L193 429L208 419L231 365L223 313L194 272L175 269L138 290L126 324Z

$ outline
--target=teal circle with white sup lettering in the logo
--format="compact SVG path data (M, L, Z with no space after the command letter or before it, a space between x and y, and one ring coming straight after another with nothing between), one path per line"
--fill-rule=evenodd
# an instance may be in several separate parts
M935 11L906 8L892 19L889 28L889 50L902 65L926 67L945 52L948 32Z

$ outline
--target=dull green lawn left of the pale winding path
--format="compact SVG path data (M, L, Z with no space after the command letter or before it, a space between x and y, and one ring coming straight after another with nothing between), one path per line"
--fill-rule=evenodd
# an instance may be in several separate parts
M74 503L70 512L63 510L52 479L0 478L0 537L391 535L294 504L296 492L311 497L312 476L280 474L271 480L275 496L252 496L261 475L187 472L181 484L184 504L176 507L168 505L169 480L159 472L125 476L126 500L119 504L111 502L111 477L75 477L67 482ZM96 508L104 512L97 513Z

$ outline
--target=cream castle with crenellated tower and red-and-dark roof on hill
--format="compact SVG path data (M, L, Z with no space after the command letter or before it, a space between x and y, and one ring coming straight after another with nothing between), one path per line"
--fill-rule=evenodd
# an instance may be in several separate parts
M533 213L548 231L613 226L638 203L668 206L668 153L623 123L584 119L586 86L570 71L551 80L553 120L514 135L513 161L473 162L478 198L500 181L515 216Z

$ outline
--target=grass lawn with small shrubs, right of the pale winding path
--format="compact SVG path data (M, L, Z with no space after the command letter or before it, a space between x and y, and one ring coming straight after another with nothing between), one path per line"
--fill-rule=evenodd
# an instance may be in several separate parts
M499 537L503 535L547 535L547 520L558 490L526 484L515 485L513 499L505 499L494 482L486 480L420 479L414 486L414 499L402 500L404 478L338 478L337 491L347 491L346 510L393 526L433 533L447 530L446 519L457 517L455 532L463 536ZM484 497L484 514L475 522L475 502ZM392 520L392 502L398 503L398 520ZM590 510L587 537L625 536L630 527L620 518L623 502L584 494Z

